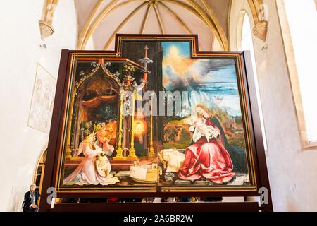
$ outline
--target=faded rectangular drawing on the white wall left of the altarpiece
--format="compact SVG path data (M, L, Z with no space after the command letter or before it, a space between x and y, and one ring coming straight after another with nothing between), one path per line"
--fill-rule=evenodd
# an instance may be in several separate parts
M55 89L56 79L43 66L37 64L28 126L49 133Z

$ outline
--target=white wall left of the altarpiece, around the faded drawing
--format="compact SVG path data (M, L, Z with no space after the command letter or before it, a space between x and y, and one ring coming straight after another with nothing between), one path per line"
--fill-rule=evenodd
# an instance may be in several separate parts
M48 134L27 126L37 63L57 78L61 49L75 49L73 1L60 1L54 35L42 41L43 1L0 1L0 211L18 211ZM45 43L47 49L39 44Z

